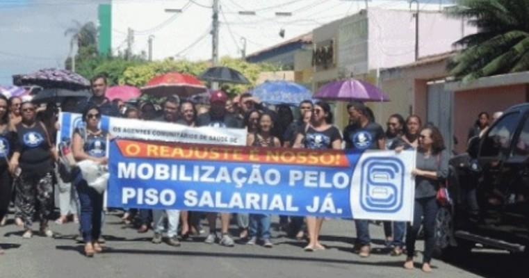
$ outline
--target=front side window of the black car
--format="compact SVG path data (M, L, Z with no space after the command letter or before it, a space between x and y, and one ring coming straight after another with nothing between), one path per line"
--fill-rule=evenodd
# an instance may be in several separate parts
M499 156L507 154L512 134L518 123L519 113L510 113L500 118L491 129L485 133L480 149L480 156Z

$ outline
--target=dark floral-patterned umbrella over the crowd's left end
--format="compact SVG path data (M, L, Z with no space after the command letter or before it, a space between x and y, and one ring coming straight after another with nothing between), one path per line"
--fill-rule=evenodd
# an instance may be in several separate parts
M39 85L42 88L82 90L90 87L90 81L83 76L56 68L38 70L22 76L20 80L24 85Z

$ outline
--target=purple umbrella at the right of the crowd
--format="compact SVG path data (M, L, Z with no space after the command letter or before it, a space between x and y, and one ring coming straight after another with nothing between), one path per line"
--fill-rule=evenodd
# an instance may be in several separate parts
M389 97L375 85L356 79L327 83L314 93L314 98L337 101L389 101Z

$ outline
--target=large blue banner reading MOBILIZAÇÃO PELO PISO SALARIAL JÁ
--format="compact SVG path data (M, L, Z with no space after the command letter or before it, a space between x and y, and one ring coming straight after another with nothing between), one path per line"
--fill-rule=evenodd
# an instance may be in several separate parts
M415 152L113 140L108 206L410 221Z

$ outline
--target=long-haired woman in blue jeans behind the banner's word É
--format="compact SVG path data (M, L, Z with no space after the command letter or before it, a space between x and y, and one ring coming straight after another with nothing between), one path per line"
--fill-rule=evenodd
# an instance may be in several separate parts
M250 147L281 147L279 138L272 135L272 129L274 128L272 115L266 112L258 114L257 131L248 134L246 145ZM258 234L259 231L261 231L261 234ZM250 238L247 241L248 245L255 245L257 243L257 237L260 236L261 240L263 240L263 246L271 248L270 214L250 213L249 232Z

